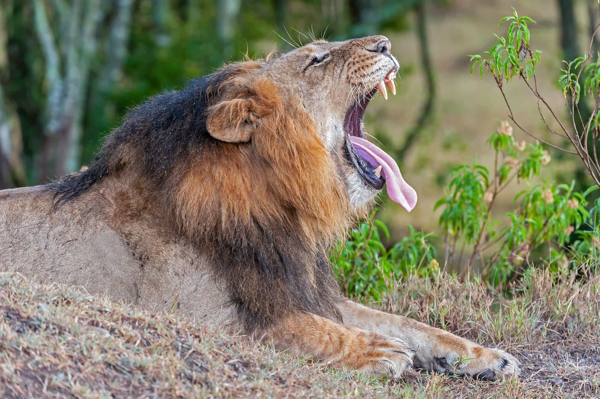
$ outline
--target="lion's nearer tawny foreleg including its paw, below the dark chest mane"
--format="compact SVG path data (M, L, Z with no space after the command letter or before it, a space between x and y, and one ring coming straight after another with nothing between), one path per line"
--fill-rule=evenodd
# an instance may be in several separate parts
M413 352L398 338L299 313L268 330L265 340L277 349L309 356L336 367L349 367L395 378L412 365Z

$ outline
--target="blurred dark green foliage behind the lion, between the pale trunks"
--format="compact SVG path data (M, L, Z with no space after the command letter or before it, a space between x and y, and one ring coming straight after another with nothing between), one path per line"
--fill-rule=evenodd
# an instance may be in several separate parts
M99 38L109 35L109 23L115 17L111 0ZM406 29L406 14L427 0L316 0L229 1L237 3L232 34L222 37L221 5L215 0L138 0L133 1L129 38L122 73L109 90L98 89L106 60L113 49L100 43L85 83L82 155L80 164L91 161L101 137L118 125L127 111L163 90L183 87L190 78L210 74L224 63L264 56L277 44L289 50L289 43L308 41L311 34L326 35L331 40L345 40L359 35L380 33L382 29ZM229 3L227 2L227 3ZM66 4L72 2L67 1ZM109 4L110 3L110 4ZM53 2L44 2L49 16ZM56 3L58 4L58 3ZM16 104L22 121L23 160L29 172L28 184L43 182L35 176L37 158L44 145L44 119L49 82L44 76L44 56L34 29L31 1L8 0L4 10L8 21L8 59L10 81L7 96ZM51 20L52 23L52 20ZM61 27L51 26L60 32ZM298 29L296 31L295 29ZM287 43L289 42L289 43ZM64 50L64 49L62 49Z

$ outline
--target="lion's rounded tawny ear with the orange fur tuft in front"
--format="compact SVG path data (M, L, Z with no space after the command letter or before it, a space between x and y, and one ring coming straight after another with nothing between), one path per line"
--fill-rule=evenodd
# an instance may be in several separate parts
M206 129L217 140L245 143L257 131L263 117L278 108L281 98L269 80L235 86L234 98L223 99L210 108Z

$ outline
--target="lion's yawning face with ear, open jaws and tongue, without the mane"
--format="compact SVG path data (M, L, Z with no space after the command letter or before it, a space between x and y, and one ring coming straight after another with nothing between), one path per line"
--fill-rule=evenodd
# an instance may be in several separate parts
M224 141L248 141L268 124L266 115L277 115L272 103L277 98L283 112L295 110L310 117L310 125L335 163L330 173L344 176L355 208L370 204L387 181L391 199L410 211L416 204L415 191L391 157L364 140L362 119L371 98L377 90L387 98L385 86L395 93L398 62L390 50L386 37L372 36L314 41L284 53L224 88L231 99L213 108L208 131ZM254 98L244 91L253 84L260 86Z

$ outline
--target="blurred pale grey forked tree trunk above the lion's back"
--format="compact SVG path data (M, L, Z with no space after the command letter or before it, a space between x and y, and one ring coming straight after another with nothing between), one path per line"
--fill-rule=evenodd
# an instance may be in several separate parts
M104 6L101 0L33 1L35 31L46 61L49 87L38 178L41 183L79 168L85 94Z

